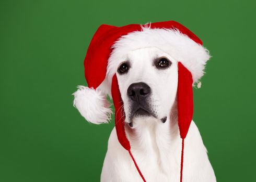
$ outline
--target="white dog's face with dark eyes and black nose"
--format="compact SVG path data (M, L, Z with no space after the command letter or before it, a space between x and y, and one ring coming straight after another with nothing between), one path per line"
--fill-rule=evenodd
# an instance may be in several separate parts
M125 122L166 122L177 93L177 60L155 47L132 50L125 57L116 71Z

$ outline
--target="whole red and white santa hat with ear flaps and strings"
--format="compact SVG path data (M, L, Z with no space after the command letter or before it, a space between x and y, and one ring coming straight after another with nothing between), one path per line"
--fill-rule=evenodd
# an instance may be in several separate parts
M117 56L122 51L143 47L160 48L178 60L178 125L182 138L180 181L182 181L184 139L187 136L193 116L194 83L204 74L204 66L210 58L202 41L189 29L175 21L155 22L123 27L102 24L92 37L84 60L88 87L79 86L74 93L74 106L84 118L95 124L111 119L112 97L115 107L115 128L120 144L129 152L139 175L145 178L131 153L130 142L125 135L123 102L117 76Z

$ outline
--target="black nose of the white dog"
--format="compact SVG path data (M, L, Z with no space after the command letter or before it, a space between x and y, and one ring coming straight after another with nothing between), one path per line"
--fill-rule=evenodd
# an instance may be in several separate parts
M147 84L138 82L129 86L127 89L127 95L133 101L140 103L141 101L144 101L145 98L147 98L147 96L150 94L150 91L151 89Z

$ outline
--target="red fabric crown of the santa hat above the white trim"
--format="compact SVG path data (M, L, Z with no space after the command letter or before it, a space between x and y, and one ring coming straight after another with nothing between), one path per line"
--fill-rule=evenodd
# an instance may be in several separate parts
M195 34L176 21L151 23L151 28L177 28L181 33L188 35L193 41L202 45L202 41ZM142 28L139 24L129 24L123 27L107 24L100 25L92 37L84 60L85 78L88 87L97 88L105 79L108 58L114 42L122 35L141 30Z

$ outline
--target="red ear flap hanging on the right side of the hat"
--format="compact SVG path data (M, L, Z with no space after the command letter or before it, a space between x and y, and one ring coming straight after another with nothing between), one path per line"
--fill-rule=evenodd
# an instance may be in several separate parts
M193 117L193 78L191 72L178 62L178 125L180 137L184 139Z

